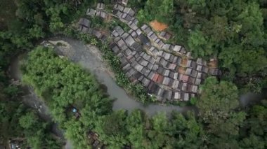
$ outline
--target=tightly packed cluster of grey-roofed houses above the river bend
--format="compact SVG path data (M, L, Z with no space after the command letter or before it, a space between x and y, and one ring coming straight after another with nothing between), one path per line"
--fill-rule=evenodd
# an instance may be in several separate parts
M104 12L104 8L103 3L98 3L96 12ZM89 8L87 15L96 13ZM199 85L208 74L220 73L219 69L209 69L204 59L193 60L183 46L164 43L171 38L167 31L157 33L147 24L139 28L134 15L131 8L116 3L112 16L128 24L129 31L117 26L106 35L98 29L89 29L90 21L85 18L79 21L79 30L93 34L103 42L111 36L110 49L119 57L126 76L132 83L141 83L158 101L188 101L200 93Z

